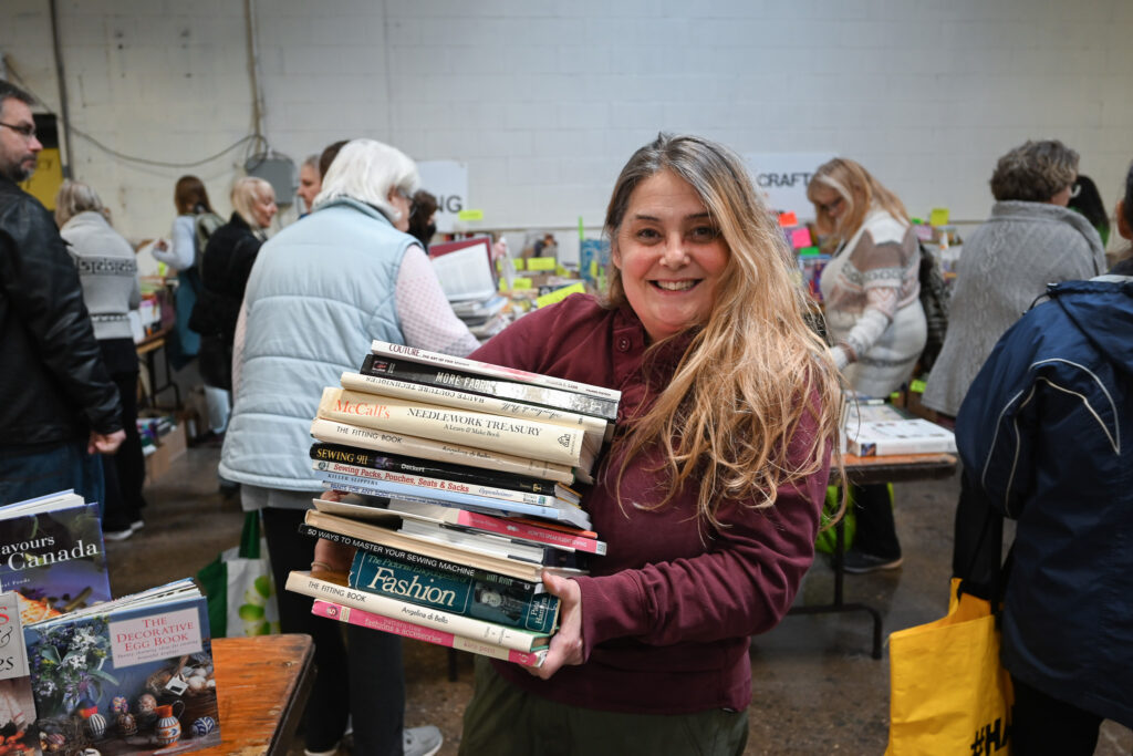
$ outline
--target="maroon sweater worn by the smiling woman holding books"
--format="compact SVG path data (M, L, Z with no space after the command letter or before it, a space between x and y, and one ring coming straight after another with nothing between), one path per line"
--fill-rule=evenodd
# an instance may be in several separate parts
M647 409L672 376L688 345L675 341L650 363L647 381L646 333L632 309L603 309L593 297L576 295L523 316L472 358L617 389L622 424ZM800 453L816 432L812 422L803 427L791 441ZM588 577L578 578L587 661L546 681L493 662L500 674L545 698L602 711L747 707L748 638L778 623L810 567L828 467L804 486L781 490L770 509L722 507L719 519L730 527L702 541L695 490L687 486L664 508L645 511L634 504L656 502L664 491L656 461L638 459L627 468L621 502L614 493L616 436L599 465L582 507L610 549L591 562Z

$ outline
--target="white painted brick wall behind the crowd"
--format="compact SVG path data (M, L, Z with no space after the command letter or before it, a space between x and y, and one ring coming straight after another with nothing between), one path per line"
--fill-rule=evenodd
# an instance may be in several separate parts
M340 138L468 163L485 228L597 227L661 129L736 151L834 151L910 211L980 220L1025 138L1082 153L1109 203L1133 159L1133 2L1082 0L256 0L271 145ZM201 161L248 134L242 3L59 3L71 118L108 147ZM58 110L46 3L5 0L0 52ZM73 164L130 236L167 232L195 172L218 210L245 148L193 168L73 137ZM564 240L564 248L568 243Z

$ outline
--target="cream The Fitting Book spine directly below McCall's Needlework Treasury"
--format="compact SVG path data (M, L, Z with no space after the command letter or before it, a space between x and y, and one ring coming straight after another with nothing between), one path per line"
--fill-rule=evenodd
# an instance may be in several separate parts
M574 482L574 474L566 465L543 462L511 455L493 455L472 447L441 443L438 441L429 441L427 439L418 439L386 431L375 431L373 428L358 427L349 423L316 418L310 424L310 435L320 441L363 447L364 449L385 451L402 457L419 457L433 461L470 465L483 469L531 476L557 483Z

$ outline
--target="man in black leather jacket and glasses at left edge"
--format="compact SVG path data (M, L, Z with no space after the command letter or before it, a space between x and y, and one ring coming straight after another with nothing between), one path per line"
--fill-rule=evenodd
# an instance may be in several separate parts
M78 271L54 220L17 181L35 170L32 97L0 80L0 504L75 489L101 501L126 438Z

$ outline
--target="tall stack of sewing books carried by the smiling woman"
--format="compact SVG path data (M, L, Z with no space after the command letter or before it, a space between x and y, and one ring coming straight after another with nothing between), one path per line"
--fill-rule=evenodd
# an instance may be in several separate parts
M593 481L619 392L372 352L324 390L312 424L316 476L348 495L315 500L303 526L355 547L353 564L292 572L288 589L316 614L537 666L559 613L543 570L583 574L606 550L571 485Z

